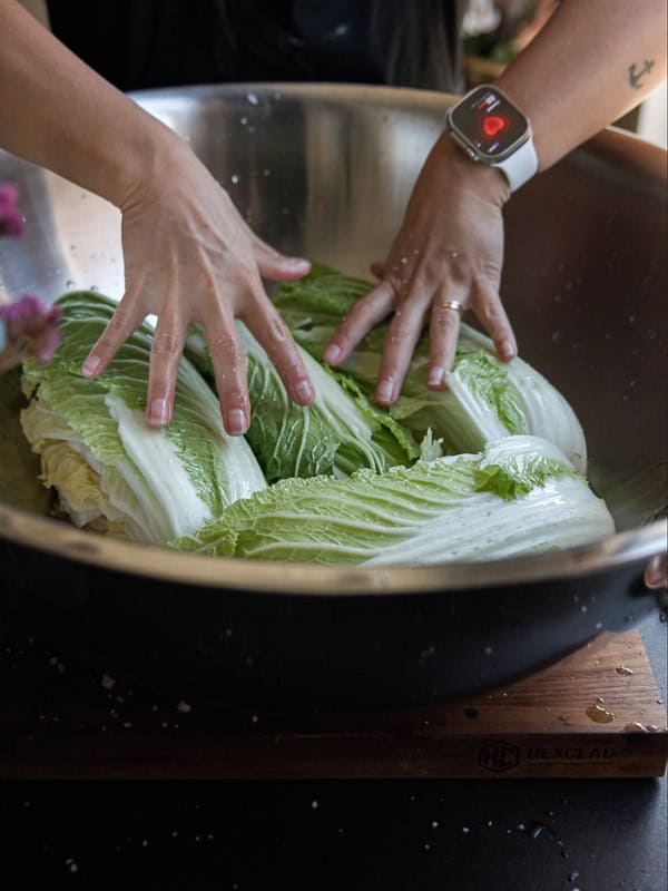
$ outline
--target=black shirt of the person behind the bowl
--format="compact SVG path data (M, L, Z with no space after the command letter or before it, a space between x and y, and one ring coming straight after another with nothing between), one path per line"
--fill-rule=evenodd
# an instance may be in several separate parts
M463 0L48 0L51 29L122 90L343 81L461 91Z

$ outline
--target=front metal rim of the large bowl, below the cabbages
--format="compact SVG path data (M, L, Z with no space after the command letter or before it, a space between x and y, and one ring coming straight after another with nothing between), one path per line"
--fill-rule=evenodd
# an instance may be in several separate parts
M495 589L620 569L665 552L668 519L654 520L647 526L560 551L420 567L324 566L183 554L85 531L63 520L3 505L0 505L0 538L111 572L129 572L220 593L385 596ZM277 567L281 567L279 572Z

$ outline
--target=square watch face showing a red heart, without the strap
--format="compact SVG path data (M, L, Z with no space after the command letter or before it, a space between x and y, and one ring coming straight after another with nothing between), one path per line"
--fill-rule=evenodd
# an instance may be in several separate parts
M453 130L481 157L494 161L512 151L530 135L529 121L494 87L478 87L450 112Z

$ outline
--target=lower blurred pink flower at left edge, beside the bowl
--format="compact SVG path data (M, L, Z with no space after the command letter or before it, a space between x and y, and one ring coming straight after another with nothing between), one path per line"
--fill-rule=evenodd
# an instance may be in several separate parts
M0 306L0 321L7 327L7 343L0 352L0 372L19 365L28 356L48 362L60 343L59 306L48 306L33 294Z

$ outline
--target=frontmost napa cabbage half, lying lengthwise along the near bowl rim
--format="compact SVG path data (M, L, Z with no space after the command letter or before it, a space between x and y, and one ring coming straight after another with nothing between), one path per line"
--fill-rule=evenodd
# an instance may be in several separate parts
M515 435L477 454L384 476L288 479L237 501L170 547L247 559L423 565L568 548L613 531L587 480L552 443Z

